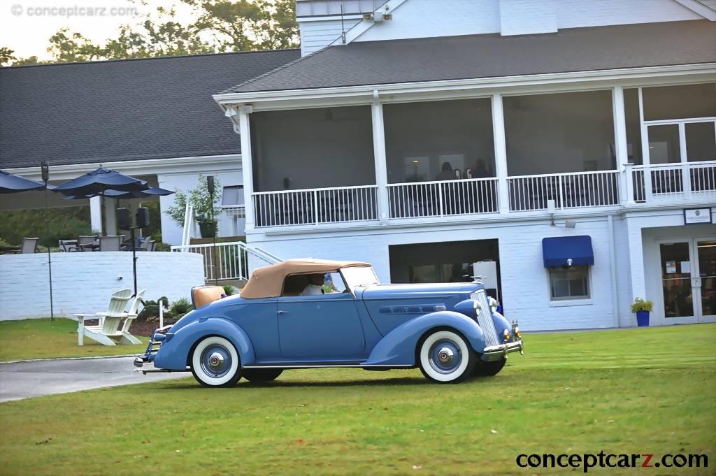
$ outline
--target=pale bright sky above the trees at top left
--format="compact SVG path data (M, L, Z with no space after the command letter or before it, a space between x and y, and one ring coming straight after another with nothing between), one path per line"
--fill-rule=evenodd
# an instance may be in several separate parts
M135 24L137 14L172 4L178 21L193 21L190 7L172 0L0 0L0 47L14 50L16 57L49 59L49 37L63 26L104 44L120 25Z

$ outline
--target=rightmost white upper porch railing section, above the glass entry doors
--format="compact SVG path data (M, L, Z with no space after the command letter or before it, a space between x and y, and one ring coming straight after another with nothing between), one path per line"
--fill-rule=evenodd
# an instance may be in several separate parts
M632 173L635 202L716 198L716 160L634 165Z

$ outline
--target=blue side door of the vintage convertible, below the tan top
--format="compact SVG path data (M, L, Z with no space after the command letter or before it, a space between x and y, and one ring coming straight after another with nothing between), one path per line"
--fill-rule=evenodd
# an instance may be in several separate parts
M360 361L365 337L351 293L282 296L278 303L281 356L297 361Z

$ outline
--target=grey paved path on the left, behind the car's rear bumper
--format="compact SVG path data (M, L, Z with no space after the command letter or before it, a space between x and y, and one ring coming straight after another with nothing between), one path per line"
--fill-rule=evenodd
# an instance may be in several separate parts
M191 375L185 372L144 375L134 371L133 361L133 356L127 356L0 364L0 402L100 387L178 379Z

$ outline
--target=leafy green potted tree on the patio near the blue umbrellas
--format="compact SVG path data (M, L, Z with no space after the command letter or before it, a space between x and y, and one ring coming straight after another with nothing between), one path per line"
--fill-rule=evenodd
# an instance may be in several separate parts
M221 184L216 177L214 178L214 186L216 190L221 190ZM174 204L167 209L166 213L179 226L183 227L186 204L187 202L190 203L194 208L194 220L199 224L201 238L213 238L216 234L216 215L218 214L216 208L220 201L221 193L215 193L213 200L211 200L206 178L200 176L199 183L193 190L188 192L183 190L175 191Z

